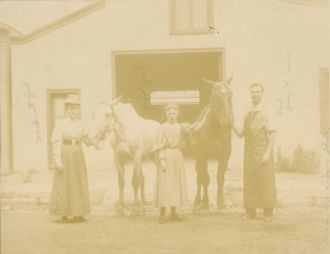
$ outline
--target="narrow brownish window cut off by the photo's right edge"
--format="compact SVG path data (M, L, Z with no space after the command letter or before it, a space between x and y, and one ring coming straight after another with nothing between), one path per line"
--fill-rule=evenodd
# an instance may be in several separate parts
M329 69L320 69L320 131L327 133L329 131Z

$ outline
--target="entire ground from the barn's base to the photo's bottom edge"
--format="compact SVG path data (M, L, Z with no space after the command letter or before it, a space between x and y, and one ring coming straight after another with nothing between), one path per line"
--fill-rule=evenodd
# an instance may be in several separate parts
M189 197L195 174L188 163ZM149 167L149 166L148 166ZM88 222L60 224L48 214L50 172L1 178L1 253L329 253L330 213L322 174L277 174L279 207L271 222L246 220L242 210L241 171L229 169L228 208L216 210L215 166L211 164L211 210L181 209L183 221L159 224L149 202L145 214L132 216L130 184L125 216L115 214L115 172L89 172L92 213ZM130 170L128 170L130 171ZM130 173L127 176L129 181ZM146 172L152 200L154 170Z

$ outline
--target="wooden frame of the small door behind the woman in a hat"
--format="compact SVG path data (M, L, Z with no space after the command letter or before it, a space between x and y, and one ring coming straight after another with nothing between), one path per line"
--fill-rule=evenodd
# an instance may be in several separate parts
M47 165L48 168L52 168L53 165L51 165L51 133L53 131L52 129L52 117L53 115L51 115L51 113L53 113L52 111L52 101L51 101L51 96L54 94L77 94L78 98L80 99L80 88L71 88L71 89L47 89L46 90L46 105L47 105Z

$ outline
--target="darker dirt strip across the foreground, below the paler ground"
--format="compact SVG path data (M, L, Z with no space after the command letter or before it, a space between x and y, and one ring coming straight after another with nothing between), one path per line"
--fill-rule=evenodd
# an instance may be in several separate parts
M2 213L1 253L329 253L326 211L288 209L272 222L240 212L189 214L158 224L154 216L93 215L59 224L43 213Z

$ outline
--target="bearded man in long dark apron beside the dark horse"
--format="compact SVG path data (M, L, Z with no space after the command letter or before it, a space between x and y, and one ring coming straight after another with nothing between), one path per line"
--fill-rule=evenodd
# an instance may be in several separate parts
M276 129L271 118L261 105L263 87L260 84L250 86L252 107L244 117L244 127L234 126L244 143L244 207L249 219L256 217L256 209L264 209L265 220L273 217L276 206L275 171L273 144Z

